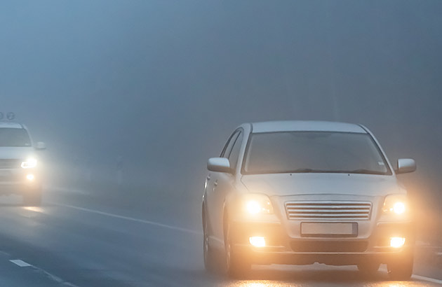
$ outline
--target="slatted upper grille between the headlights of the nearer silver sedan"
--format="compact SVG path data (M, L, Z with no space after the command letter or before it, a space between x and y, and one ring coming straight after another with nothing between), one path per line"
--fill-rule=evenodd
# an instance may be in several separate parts
M368 221L371 214L371 202L286 202L286 212L287 218L292 220Z

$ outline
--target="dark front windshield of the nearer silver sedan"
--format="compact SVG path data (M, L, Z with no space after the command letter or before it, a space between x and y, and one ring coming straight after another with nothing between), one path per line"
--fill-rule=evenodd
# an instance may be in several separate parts
M391 174L369 134L272 132L252 134L244 174Z

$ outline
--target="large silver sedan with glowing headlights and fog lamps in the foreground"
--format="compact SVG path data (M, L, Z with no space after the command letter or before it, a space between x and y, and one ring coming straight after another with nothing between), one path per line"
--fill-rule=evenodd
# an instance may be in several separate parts
M415 223L396 174L415 171L416 163L400 159L392 167L363 125L246 123L207 168L209 271L241 277L253 264L318 262L373 274L387 264L391 279L410 278Z

